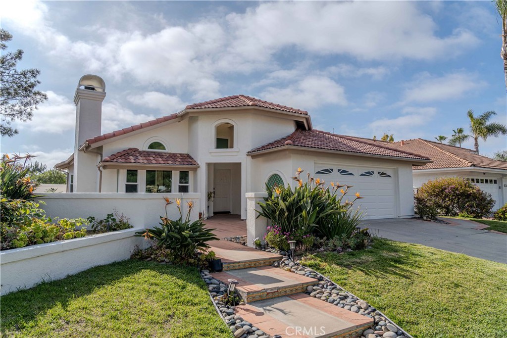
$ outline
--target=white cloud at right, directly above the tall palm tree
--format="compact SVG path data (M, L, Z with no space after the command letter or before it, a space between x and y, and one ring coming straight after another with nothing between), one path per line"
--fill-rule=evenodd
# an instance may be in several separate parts
M454 72L435 77L424 72L419 74L415 81L407 84L408 88L399 104L457 99L485 86L486 83L479 80L475 74Z

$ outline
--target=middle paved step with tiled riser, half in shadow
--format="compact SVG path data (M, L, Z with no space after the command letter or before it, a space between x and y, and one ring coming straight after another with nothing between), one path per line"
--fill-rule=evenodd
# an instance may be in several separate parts
M318 280L273 267L259 267L212 273L213 278L227 283L229 278L239 284L236 290L245 303L262 301L306 291Z

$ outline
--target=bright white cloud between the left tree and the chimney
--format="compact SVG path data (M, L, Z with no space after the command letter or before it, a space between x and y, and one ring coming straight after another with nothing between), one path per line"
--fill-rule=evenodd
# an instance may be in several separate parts
M14 122L20 130L32 132L61 134L74 129L76 125L76 105L65 96L47 91L48 100L39 105L33 112L33 118L27 122Z

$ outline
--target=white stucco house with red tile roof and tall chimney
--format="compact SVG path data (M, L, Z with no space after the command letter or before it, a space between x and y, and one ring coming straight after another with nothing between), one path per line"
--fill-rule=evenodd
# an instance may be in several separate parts
M159 119L101 134L104 81L81 78L75 152L58 169L70 193L199 193L205 215L246 218L246 193L296 184L301 167L353 185L368 218L414 215L412 166L424 156L312 128L307 111L245 95L195 103ZM209 198L208 198L209 197Z

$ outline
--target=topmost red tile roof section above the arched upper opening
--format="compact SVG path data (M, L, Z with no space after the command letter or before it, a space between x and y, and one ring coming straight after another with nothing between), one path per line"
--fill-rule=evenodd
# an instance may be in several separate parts
M270 108L287 112L295 112L297 114L308 115L308 112L306 110L287 107L281 104L263 101L258 98L246 95L233 95L222 97L216 100L189 104L188 106L185 107L185 109L230 108L230 107L247 107L247 106L258 106L263 108Z

